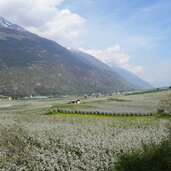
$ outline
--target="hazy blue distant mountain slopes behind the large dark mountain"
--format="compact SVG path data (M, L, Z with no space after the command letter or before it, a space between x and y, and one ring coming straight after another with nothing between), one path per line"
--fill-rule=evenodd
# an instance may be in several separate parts
M124 79L127 84L131 85L133 89L135 90L146 90L146 89L151 89L152 86L150 84L148 84L147 82L145 82L144 80L140 79L138 76L136 76L135 74L117 67L117 66L108 66L105 63L99 61L97 58L95 58L94 56L84 53L80 50L77 49L71 49L71 51L75 54L78 55L79 57L81 56L81 59L84 60L84 62L89 63L90 65L96 66L98 68L101 68L103 70L107 70L109 72L113 72L115 73L115 75L117 74L118 76L120 76L122 79Z

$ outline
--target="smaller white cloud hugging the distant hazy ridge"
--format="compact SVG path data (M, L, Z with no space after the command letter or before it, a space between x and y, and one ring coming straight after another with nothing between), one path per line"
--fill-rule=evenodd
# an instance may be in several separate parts
M122 49L119 45L113 45L112 47L103 50L79 49L95 56L109 66L117 65L121 68L131 71L134 74L140 74L143 71L142 66L133 66L129 64L130 56L122 52Z

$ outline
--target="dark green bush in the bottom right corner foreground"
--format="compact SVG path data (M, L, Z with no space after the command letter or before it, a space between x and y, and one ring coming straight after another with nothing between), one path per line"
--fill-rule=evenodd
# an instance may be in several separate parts
M141 149L133 149L121 154L115 171L170 171L171 170L171 124L168 126L168 136L159 144L142 143Z

